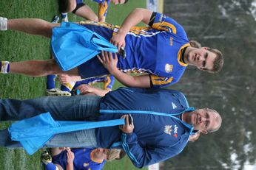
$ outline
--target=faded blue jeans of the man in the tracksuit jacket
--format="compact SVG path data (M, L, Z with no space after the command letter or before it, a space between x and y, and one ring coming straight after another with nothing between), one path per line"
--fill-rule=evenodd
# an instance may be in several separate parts
M50 112L55 120L97 121L100 102L99 96L44 96L24 101L1 99L0 121L16 121L46 112ZM0 146L21 145L10 140L7 130L0 130ZM96 147L95 129L55 135L45 146Z

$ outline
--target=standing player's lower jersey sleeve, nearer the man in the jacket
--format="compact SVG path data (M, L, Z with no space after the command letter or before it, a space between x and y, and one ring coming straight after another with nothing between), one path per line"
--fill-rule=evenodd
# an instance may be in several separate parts
M150 74L149 77L152 88L164 88L177 82L173 77L158 77L153 74Z

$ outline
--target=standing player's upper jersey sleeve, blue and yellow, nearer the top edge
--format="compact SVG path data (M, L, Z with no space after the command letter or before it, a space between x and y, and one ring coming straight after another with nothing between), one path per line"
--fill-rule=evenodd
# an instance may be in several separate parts
M186 35L186 32L180 24L162 13L152 13L149 26L153 29L169 32L172 35Z

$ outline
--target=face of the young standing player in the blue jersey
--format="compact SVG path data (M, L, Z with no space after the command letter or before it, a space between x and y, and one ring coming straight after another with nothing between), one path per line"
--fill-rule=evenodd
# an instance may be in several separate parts
M195 65L200 70L212 71L217 56L207 49L206 47L202 47L201 49L193 48L190 50L186 56L188 64Z

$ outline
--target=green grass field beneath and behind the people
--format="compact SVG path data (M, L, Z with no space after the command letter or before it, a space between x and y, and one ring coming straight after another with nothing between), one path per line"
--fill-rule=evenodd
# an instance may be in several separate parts
M86 1L87 2L87 1ZM87 3L92 10L98 9L97 3ZM121 24L125 16L134 7L146 7L144 0L129 1L125 5L111 6L107 15L107 22ZM7 18L42 18L50 21L53 15L58 13L57 0L16 0L0 1L0 15ZM70 21L80 21L81 18L73 14L69 15ZM47 38L25 35L20 32L0 32L0 59L9 61L21 61L30 59L47 59L50 57L50 40ZM44 96L46 78L24 77L19 75L0 76L0 98L30 99ZM120 86L115 83L114 88ZM0 124L0 128L8 127L9 123ZM40 161L41 150L33 156L27 155L23 149L0 148L1 170L36 170L43 169ZM135 169L128 157L121 161L112 161L104 166L105 170Z

